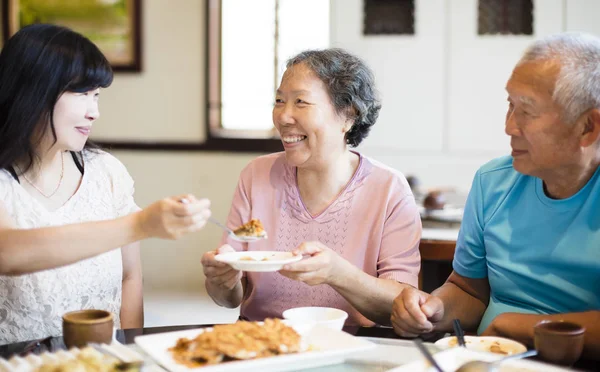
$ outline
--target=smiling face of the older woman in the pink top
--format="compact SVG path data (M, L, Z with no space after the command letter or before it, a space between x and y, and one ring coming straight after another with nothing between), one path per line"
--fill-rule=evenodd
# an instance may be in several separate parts
M327 87L304 63L288 68L275 96L273 123L288 163L319 166L346 151L352 122L339 115Z

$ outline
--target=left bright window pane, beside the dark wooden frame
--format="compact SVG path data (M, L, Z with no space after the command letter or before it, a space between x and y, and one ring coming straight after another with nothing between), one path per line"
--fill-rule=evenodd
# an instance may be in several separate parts
M222 126L270 129L275 0L222 0L221 25Z

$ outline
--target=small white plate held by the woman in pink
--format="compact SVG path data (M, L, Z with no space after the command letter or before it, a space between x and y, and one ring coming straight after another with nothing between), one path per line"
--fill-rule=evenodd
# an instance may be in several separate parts
M240 271L278 271L283 265L300 261L302 256L291 252L278 251L242 251L221 253L215 260L225 262Z

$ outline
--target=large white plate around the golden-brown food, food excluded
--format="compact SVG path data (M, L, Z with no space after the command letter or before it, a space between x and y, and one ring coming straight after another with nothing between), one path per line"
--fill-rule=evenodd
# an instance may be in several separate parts
M348 356L375 347L375 344L370 341L326 327L303 327L296 328L296 330L302 336L302 342L313 350L197 368L189 368L177 363L168 349L173 347L179 338L194 338L204 332L204 329L138 336L135 338L135 343L162 367L173 372L190 370L200 372L290 371L342 363Z

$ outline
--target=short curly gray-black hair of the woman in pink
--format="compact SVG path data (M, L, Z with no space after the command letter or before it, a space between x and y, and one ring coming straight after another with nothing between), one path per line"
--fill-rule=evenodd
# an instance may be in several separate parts
M346 143L358 146L377 121L381 103L373 72L358 57L343 49L307 50L287 62L287 68L305 63L325 83L338 114L350 115L354 123L346 133Z

